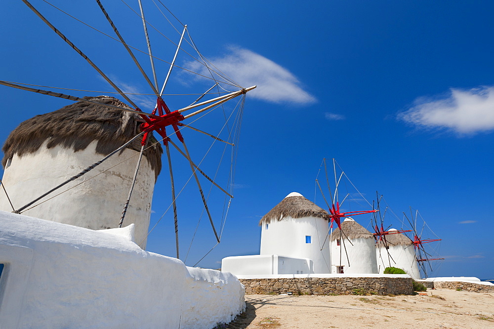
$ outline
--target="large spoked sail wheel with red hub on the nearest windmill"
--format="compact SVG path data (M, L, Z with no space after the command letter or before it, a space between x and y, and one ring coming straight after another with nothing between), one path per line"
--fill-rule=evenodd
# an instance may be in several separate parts
M127 142L125 142L121 147L113 150L109 154L107 154L105 157L103 157L100 161L91 164L88 163L87 168L82 170L81 172L74 173L71 175L71 177L67 178L64 182L61 184L51 187L47 186L45 193L42 193L40 196L34 198L32 201L29 203L26 203L20 207L13 207L12 210L13 212L16 213L22 213L24 211L27 211L30 208L36 207L41 204L42 199L45 197L56 197L62 193L67 192L68 190L60 190L62 187L66 186L67 184L73 182L73 181L78 181L80 177L83 175L86 175L89 171L93 170L95 167L99 166L103 162L107 161L110 157L115 156L119 154L122 150L124 150L128 145L133 143L134 141L138 141L141 144L140 147L140 152L138 153L138 160L137 164L135 166L135 172L134 172L134 177L132 179L132 184L129 188L128 194L126 195L126 198L123 200L123 209L122 209L122 214L120 218L115 218L115 227L117 226L123 226L125 223L125 216L128 210L129 205L132 204L132 196L135 194L134 192L134 187L135 187L135 180L137 177L137 174L139 172L140 164L141 164L141 159L143 153L152 147L156 143L163 142L166 150L166 155L167 155L167 163L168 163L168 168L169 168L169 175L170 175L170 195L171 195L171 204L170 207L173 209L173 217L174 217L174 228L175 228L175 238L176 238L176 256L177 258L179 257L179 252L178 252L178 217L179 217L179 210L177 209L177 199L180 195L180 192L183 190L178 191L175 188L176 185L176 176L174 174L174 170L172 170L172 156L170 152L170 145L176 149L178 152L179 157L183 157L188 165L190 166L191 169L191 174L189 176L189 180L192 180L193 182L196 183L197 185L197 190L198 190L198 195L201 200L201 204L203 211L206 213L209 223L211 226L211 229L214 233L214 237L216 240L216 245L220 242L221 239L221 232L222 230L216 230L214 221L213 221L213 215L211 214L210 211L210 205L208 206L208 195L211 190L209 190L209 193L206 193L203 186L204 183L201 183L201 180L207 181L208 184L210 183L211 188L214 187L215 189L217 188L218 190L223 193L227 199L226 204L230 205L230 202L233 198L232 191L231 191L231 186L233 186L233 173L234 173L234 167L233 164L235 162L235 157L236 157L236 149L234 149L235 143L238 140L239 136L239 129L240 129L240 123L242 119L242 112L243 112L243 107L244 107L244 100L245 100L245 95L248 91L252 90L255 88L255 86L252 87L242 87L240 86L237 82L234 82L232 79L228 78L226 75L224 75L221 71L219 71L211 62L209 62L202 54L199 52L197 49L196 44L190 37L190 34L188 32L187 26L181 24L181 30L182 32L180 33L180 39L176 41L171 41L172 43L175 44L176 50L174 53L174 56L171 60L165 61L157 56L155 56L151 50L151 43L150 43L150 38L148 34L148 28L153 27L149 20L145 18L144 16L144 11L143 11L143 6L141 1L139 0L139 11L140 13L134 11L134 9L130 8L136 16L138 17L139 23L142 24L141 26L144 27L144 36L146 39L146 44L147 44L147 50L142 51L138 49L138 47L134 47L127 43L127 41L124 40L122 37L121 33L117 29L117 25L111 18L109 13L107 12L106 8L103 6L101 1L97 0L96 3L99 7L100 12L104 15L105 19L108 21L109 26L111 26L113 33L115 34L116 37L111 37L108 34L105 34L106 37L113 39L114 41L119 42L122 44L124 47L125 51L128 53L130 56L131 60L134 62L136 68L138 71L141 73L144 81L149 85L149 88L151 90L151 94L155 97L154 103L154 108L152 111L143 111L139 108L137 105L137 102L133 99L135 95L132 95L131 92L127 92L119 86L119 83L114 82L114 79L112 79L109 75L105 74L103 70L100 68L100 66L96 65L95 62L93 62L89 56L87 56L81 48L75 45L72 41L69 40L69 38L64 35L58 28L56 28L49 19L47 19L44 15L41 14L41 12L33 6L28 0L23 0L23 2L50 28L58 37L60 37L64 42L66 42L73 50L75 50L79 55L82 56L82 58L94 69L96 72L101 76L101 78L106 81L109 85L111 85L115 90L116 94L120 95L126 103L132 107L132 109L124 107L124 106L112 106L109 104L102 104L99 103L96 100L90 100L90 99L85 99L82 97L78 96L73 96L73 95L67 95L67 94L62 94L50 90L46 90L46 86L37 86L37 88L32 88L30 86L27 86L27 83L19 83L19 82L8 82L8 81L0 81L0 84L12 88L17 88L21 90L26 90L29 92L36 92L48 96L53 96L53 97L58 97L58 98L63 98L63 99L68 99L72 101L79 101L79 102L84 102L92 105L98 105L101 106L102 110L106 110L108 108L114 109L114 110L120 110L124 111L127 113L130 113L132 115L138 116L142 120L142 124L139 125L139 130L133 136L131 139L129 139ZM75 18L75 16L70 15L66 11L63 11L62 9L53 6L54 11L60 11L64 15L69 15L71 18ZM164 9L167 10L166 7L161 7L160 11ZM79 22L82 22L81 20L78 20ZM82 22L83 23L83 22ZM86 26L89 26L86 23L83 23ZM170 23L171 24L171 23ZM91 26L89 26L92 28ZM94 29L94 28L92 28ZM98 31L98 30L97 30ZM99 33L102 33L101 31L98 31ZM158 31L159 32L159 31ZM103 33L104 34L104 33ZM168 39L169 40L169 39ZM185 47L188 47L188 49L185 49ZM113 49L112 49L113 50ZM194 51L197 53L197 55L192 56L191 53ZM137 59L137 56L135 53L144 53L146 56L149 57L149 61L151 64L151 71L152 71L152 76L148 75L146 73L146 70L143 68L143 66L140 64L140 61ZM213 84L212 87L204 91L204 89L200 93L196 93L193 97L192 103L190 101L184 100L182 101L182 105L179 106L168 106L167 103L165 102L165 98L167 95L164 93L165 88L168 85L168 82L171 77L172 70L175 69L180 69L182 71L185 71L186 69L183 67L180 67L176 64L177 57L179 57L180 54L186 54L188 56L191 56L194 58L195 61L200 62L202 67L204 67L204 70L206 70L209 73L209 76L204 76L203 71L201 73L197 72L192 72L191 70L187 70L189 73L196 73L198 75L201 75L204 79L209 79ZM162 72L162 78L164 78L164 82L160 88L158 85L158 79L160 76L160 71L155 68L156 62L161 61L162 63L165 63L169 66L166 70ZM149 71L149 70L148 70ZM38 87L43 88L43 89L38 89ZM229 91L227 88L232 88L232 89L237 89L234 91ZM64 89L64 88L62 88ZM206 88L205 88L206 89ZM214 89L214 90L213 90ZM168 96L169 97L169 96ZM240 101L234 106L233 110L228 110L223 107L224 104L230 100L233 100L234 98L240 97ZM190 99L190 96L187 97ZM179 102L175 102L179 103ZM170 108L176 110L171 110ZM225 134L226 132L226 138L220 138L218 134L212 134L208 133L202 129L197 128L196 126L192 126L191 124L195 124L195 122L198 120L197 118L201 119L206 115L211 115L213 113L213 110L215 109L221 109L223 111L222 116L225 117L224 123L220 123L219 126L221 127L221 130L219 132L223 132ZM192 112L192 113L191 113ZM194 120L192 123L191 121ZM168 127L168 131L166 130L166 127ZM201 168L201 164L203 163L203 160L201 161L194 161L193 157L191 156L191 152L189 151L188 143L186 144L185 142L185 132L184 130L186 129L191 129L194 130L194 133L199 133L208 136L207 138L213 138L213 143L216 141L223 142L226 146L231 146L231 160L232 160L232 165L229 166L229 173L227 174L228 179L224 183L223 187L220 186L216 182L216 174L214 175L207 175L204 170ZM151 139L152 132L156 132L161 139L158 141L153 141ZM173 142L173 139L177 139L178 143ZM179 147L177 144L181 144L181 147ZM206 149L206 155L208 153L209 149ZM227 151L223 151L223 154ZM221 151L220 151L221 154ZM203 159L206 157L206 155L203 157ZM221 163L221 160L220 160ZM219 167L219 165L218 165ZM176 166L174 166L176 168ZM182 168L179 168L182 169ZM94 176L93 176L94 177ZM92 179L93 177L88 178ZM85 181L87 181L85 180ZM85 182L84 181L84 182ZM83 182L81 182L82 184ZM3 185L3 184L2 184ZM8 188L8 186L7 186ZM62 192L60 192L62 191ZM55 195L54 192L57 192L59 194ZM170 208L169 207L169 208ZM227 210L225 210L227 213ZM164 214L165 215L165 214ZM162 216L163 218L163 216ZM224 224L224 219L225 217L222 218L221 225L223 226ZM161 220L161 219L160 219ZM159 220L158 220L159 222ZM156 225L155 225L156 227ZM154 227L153 227L154 229ZM219 232L218 232L219 231ZM137 241L137 243L140 243ZM142 242L141 242L142 243Z

